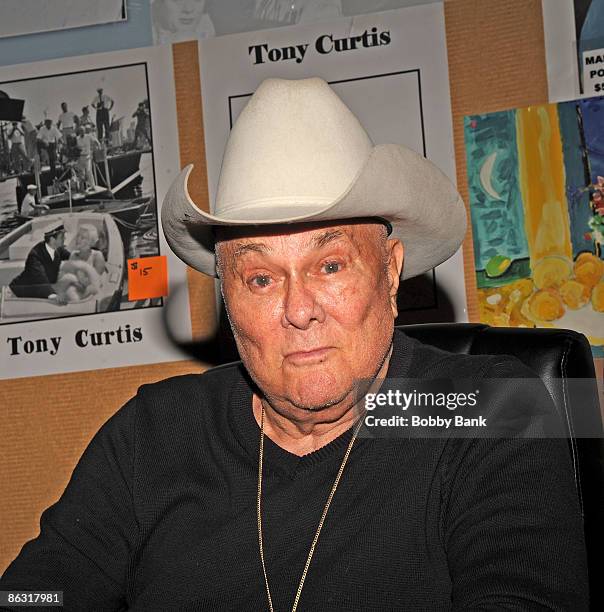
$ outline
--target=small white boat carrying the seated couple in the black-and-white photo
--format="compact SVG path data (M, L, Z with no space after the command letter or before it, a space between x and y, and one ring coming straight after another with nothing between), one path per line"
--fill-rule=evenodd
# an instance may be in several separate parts
M95 295L59 305L49 299L17 297L9 287L21 273L30 250L43 240L44 232L58 223L65 226L65 247L73 251L78 228L93 225L99 240L95 246L103 253L106 270ZM79 314L118 310L124 283L124 243L116 220L109 213L67 212L36 217L0 238L0 324L37 321Z

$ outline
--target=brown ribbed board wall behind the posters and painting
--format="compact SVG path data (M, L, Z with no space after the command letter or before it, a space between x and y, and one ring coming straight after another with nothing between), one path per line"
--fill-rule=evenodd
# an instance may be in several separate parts
M457 179L468 201L465 115L547 102L540 0L445 2ZM198 47L173 45L180 164L193 163L195 202L208 209ZM463 246L468 318L478 321L472 236ZM189 270L193 335L215 330L212 279ZM597 362L602 374L602 361ZM202 372L207 364L179 361L0 382L0 573L36 536L42 511L63 491L82 451L136 389L169 376Z

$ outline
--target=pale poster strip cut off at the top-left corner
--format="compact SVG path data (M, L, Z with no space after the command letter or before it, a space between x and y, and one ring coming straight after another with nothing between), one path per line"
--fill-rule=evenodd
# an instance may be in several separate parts
M0 37L79 28L125 19L125 0L2 0Z

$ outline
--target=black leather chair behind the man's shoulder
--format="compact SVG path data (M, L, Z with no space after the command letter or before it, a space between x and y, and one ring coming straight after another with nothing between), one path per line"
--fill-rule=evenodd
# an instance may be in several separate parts
M585 336L562 329L489 327L479 323L399 326L426 344L452 353L514 355L545 383L563 421L583 513L592 610L604 610L604 436L594 364ZM593 379L593 393L573 394L566 379ZM587 386L590 385L589 381ZM578 424L580 421L580 426ZM590 437L575 432L589 431Z

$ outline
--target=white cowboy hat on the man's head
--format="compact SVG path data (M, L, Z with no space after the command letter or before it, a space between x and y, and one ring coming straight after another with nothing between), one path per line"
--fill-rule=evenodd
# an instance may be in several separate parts
M319 78L267 79L229 136L214 213L189 197L187 166L162 206L172 250L216 276L213 226L379 217L405 247L402 278L430 270L459 248L466 212L451 181L396 144L374 146L350 109Z

